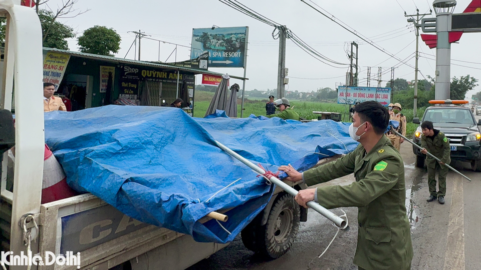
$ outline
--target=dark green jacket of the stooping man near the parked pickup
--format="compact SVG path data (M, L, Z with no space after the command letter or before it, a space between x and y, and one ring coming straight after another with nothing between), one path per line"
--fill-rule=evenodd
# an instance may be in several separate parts
M428 152L430 152L435 157L441 159L442 162L449 164L451 162L451 146L449 145L449 141L444 135L443 132L439 131L437 136L434 139L430 139L424 134L421 136L421 147L425 148ZM437 160L430 157L429 155L426 156L426 165L435 168ZM441 165L442 166L442 165Z

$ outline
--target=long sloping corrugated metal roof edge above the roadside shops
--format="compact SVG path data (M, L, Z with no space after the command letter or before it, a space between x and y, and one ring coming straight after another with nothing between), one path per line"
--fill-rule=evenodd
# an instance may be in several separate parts
M208 71L206 69L197 69L197 68L188 68L188 67L183 67L183 66L175 66L175 65L170 65L168 63L154 63L154 62L138 61L138 60L125 59L125 58L117 58L117 57L113 57L113 56L105 56L105 55L98 55L98 54L85 53L85 52L79 52L79 51L71 51L71 50L63 50L63 49L56 49L56 48L48 48L48 47L44 47L43 49L45 51L55 51L55 52L70 54L70 55L73 55L73 56L85 57L85 58L94 59L94 60L102 60L102 61L107 61L107 62L112 62L112 63L130 63L130 64L137 64L137 65L153 66L153 67L160 67L160 68L167 69L167 70L188 71L188 72L192 72L192 73L195 73L195 74L210 74L210 75L217 75L217 76L223 75L222 73ZM230 75L230 74L229 74L229 76L231 78L236 78L236 79L249 79L249 78L233 76L233 75Z

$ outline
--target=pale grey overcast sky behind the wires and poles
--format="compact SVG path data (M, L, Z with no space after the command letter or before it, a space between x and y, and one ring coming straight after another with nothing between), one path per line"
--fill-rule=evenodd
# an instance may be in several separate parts
M416 12L429 13L432 0L313 0L325 10L351 26L364 36L370 37L379 46L396 54L401 59L407 58L414 66L415 34L413 27L404 17ZM457 0L454 13L460 13L471 0ZM51 8L61 0L50 0ZM371 66L371 76L377 79L378 66L383 72L395 69L394 77L414 79L414 69L399 60L391 58L373 46L366 44L359 37L343 29L335 22L321 15L301 0L242 0L246 6L266 17L286 25L296 35L313 46L323 55L342 63L348 63L346 48L348 43L356 41L359 45L360 86L366 85L367 66ZM151 38L189 46L192 28L249 26L249 53L247 62L246 89L273 89L277 87L279 40L272 37L273 27L251 18L218 0L79 0L76 5L80 10L90 10L74 18L61 19L71 25L79 33L94 25L114 28L122 37L121 49L116 55L124 57L134 40L129 31L144 31ZM433 15L434 17L434 10ZM451 63L474 68L451 65L451 77L471 75L481 79L481 61L479 60L479 44L481 33L464 33L458 44L451 44ZM78 50L77 40L69 40L71 50ZM350 46L350 45L349 45ZM175 45L142 39L141 60L166 61ZM421 56L434 59L435 49L429 49L419 38ZM426 54L423 54L426 53ZM174 53L175 54L175 53ZM174 54L168 62L174 61ZM189 58L189 48L178 47L177 60ZM127 58L134 58L134 48ZM461 61L470 61L466 63ZM289 68L289 85L286 89L311 91L319 87L335 88L336 82L344 81L347 68L334 68L326 65L297 47L291 40L287 41L286 67ZM419 69L424 76L434 76L435 61L421 57ZM209 70L242 76L242 68L209 68ZM298 77L298 78L296 78ZM335 77L335 78L333 78ZM309 78L309 79L302 79ZM325 79L316 79L325 78ZM419 79L423 77L419 74ZM390 72L382 75L383 80L390 79ZM231 79L233 80L233 79ZM239 84L240 81L234 81ZM231 82L234 83L234 82ZM200 83L197 78L197 83ZM386 84L382 82L382 86ZM242 84L241 84L242 85ZM377 82L371 80L371 86ZM481 90L477 86L466 97Z

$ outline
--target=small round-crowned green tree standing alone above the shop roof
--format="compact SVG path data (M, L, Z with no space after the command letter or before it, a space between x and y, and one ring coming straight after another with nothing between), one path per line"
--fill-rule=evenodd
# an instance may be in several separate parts
M95 25L85 30L77 40L82 52L114 56L113 53L120 49L121 38L114 29Z

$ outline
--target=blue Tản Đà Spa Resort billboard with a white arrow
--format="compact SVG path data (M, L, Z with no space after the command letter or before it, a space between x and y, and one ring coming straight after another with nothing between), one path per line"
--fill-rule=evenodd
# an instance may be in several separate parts
M190 58L209 52L209 67L245 67L249 27L192 29Z

